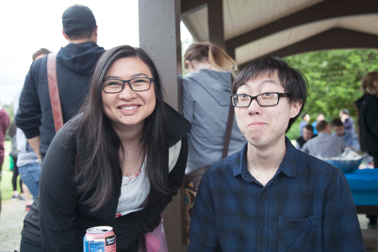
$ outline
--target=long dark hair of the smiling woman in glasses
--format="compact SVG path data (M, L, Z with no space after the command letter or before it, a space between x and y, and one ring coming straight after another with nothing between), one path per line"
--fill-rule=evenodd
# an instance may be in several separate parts
M163 169L165 141L165 113L163 87L156 66L148 54L141 48L128 45L118 46L106 51L97 62L90 80L88 96L81 107L81 115L70 126L70 142L76 142L77 154L74 182L79 201L90 206L96 212L105 204L122 183L122 161L124 153L121 140L112 127L110 119L102 110L102 81L112 63L122 57L141 59L149 66L155 87L156 106L146 118L144 133L141 138L143 153L146 156L146 175L162 193L169 192L167 171Z

